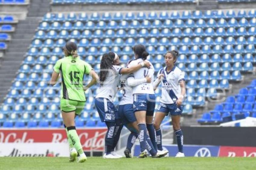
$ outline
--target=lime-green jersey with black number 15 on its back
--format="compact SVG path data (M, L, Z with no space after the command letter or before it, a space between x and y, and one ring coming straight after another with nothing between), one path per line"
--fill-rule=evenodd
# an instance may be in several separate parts
M61 74L61 99L85 102L83 77L92 70L91 65L72 56L59 59L54 71Z

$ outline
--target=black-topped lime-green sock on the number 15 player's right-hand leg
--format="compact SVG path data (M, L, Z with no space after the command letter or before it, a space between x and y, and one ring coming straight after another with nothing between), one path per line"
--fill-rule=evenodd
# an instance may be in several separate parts
M67 127L67 131L68 131L68 138L71 140L71 143L76 148L76 151L80 155L82 155L84 152L83 152L82 145L80 143L80 138L76 133L76 127L75 126Z

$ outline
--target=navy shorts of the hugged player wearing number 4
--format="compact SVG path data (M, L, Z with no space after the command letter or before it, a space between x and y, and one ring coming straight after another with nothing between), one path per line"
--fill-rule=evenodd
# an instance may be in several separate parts
M155 94L134 94L133 111L146 111L147 116L153 116L155 111Z

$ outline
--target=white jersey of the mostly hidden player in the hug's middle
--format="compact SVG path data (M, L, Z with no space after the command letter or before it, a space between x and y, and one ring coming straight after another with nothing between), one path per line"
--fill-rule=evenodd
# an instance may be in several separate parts
M120 77L121 88L123 88L123 96L119 105L133 104L133 88L128 86L127 83L128 74L123 74Z

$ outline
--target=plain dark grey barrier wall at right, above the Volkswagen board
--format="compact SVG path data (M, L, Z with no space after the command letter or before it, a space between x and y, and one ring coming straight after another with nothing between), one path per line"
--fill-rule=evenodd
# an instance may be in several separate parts
M256 147L256 127L182 127L184 144ZM173 144L176 136L173 135Z

